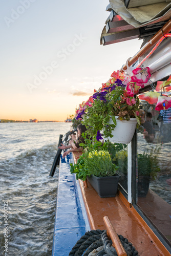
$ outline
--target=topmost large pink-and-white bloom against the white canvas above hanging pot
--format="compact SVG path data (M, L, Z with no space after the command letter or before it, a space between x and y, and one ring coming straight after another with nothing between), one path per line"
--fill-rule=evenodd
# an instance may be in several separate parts
M151 77L148 67L143 70L141 68L134 69L133 74L134 76L131 77L132 81L137 82L139 86L142 84L142 88L144 87L144 83L146 83Z

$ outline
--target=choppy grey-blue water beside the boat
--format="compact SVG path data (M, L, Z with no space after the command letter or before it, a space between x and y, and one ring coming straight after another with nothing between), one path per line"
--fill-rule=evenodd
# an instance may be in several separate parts
M49 173L59 134L65 135L70 126L63 122L0 123L0 255L51 255L58 168L54 177ZM4 202L8 202L7 223L2 215Z

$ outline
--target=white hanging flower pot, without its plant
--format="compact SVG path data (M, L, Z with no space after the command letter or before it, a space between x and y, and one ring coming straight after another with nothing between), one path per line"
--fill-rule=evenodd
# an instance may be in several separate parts
M112 132L113 137L108 139L111 142L128 144L131 142L134 136L137 120L136 118L130 118L130 120L127 121L127 120L119 120L117 118L118 116L115 116L117 125L115 127L115 130ZM112 118L110 120L110 124L113 124Z

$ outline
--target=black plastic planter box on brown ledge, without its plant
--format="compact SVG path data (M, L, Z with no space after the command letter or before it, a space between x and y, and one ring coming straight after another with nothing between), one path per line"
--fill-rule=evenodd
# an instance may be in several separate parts
M118 182L120 175L116 174L115 176L110 177L96 177L90 176L87 177L88 181L97 191L99 197L115 197L118 190Z

